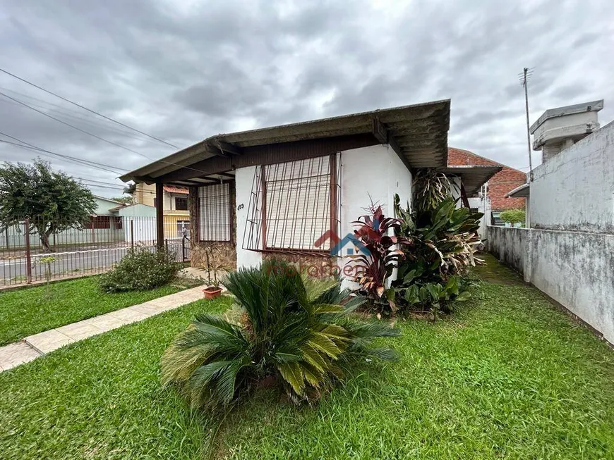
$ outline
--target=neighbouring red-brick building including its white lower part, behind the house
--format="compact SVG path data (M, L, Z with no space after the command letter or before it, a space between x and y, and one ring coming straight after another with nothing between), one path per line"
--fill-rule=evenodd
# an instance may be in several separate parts
M484 213L481 237L486 237L486 225L503 225L500 213L506 209L525 209L524 198L507 198L506 194L526 182L526 174L496 161L474 154L469 150L450 147L448 166L499 166L500 170L474 194L469 194L469 204Z

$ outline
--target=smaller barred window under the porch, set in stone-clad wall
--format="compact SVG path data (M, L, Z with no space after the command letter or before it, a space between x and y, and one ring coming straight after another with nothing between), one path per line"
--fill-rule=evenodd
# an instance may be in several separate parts
M230 241L230 185L198 187L198 239Z

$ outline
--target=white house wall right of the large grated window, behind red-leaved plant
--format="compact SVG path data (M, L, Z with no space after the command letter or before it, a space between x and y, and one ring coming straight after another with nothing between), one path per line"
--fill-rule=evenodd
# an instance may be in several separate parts
M385 216L394 216L395 194L401 205L411 204L411 173L390 146L375 145L343 151L341 154L341 225L343 238L356 228L352 222L367 213L371 201L382 205ZM345 251L342 254L347 254ZM339 259L339 267L351 259ZM344 280L343 287L350 282Z

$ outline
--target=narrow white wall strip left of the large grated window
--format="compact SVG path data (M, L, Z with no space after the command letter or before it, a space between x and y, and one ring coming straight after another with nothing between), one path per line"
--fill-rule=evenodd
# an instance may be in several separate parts
M253 185L255 166L235 170L236 187L236 267L255 267L263 260L262 254L257 251L243 249L243 234L248 219L249 200Z

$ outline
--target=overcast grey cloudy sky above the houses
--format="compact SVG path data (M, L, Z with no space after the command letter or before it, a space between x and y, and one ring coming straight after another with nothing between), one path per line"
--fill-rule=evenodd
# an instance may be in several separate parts
M526 171L525 66L531 123L601 98L601 124L614 118L608 0L0 0L0 43L4 70L178 147L449 98L450 147ZM16 99L0 95L0 132L116 170L52 160L76 177L119 184L122 170L174 151L6 74L0 92ZM0 160L35 155L0 143Z

